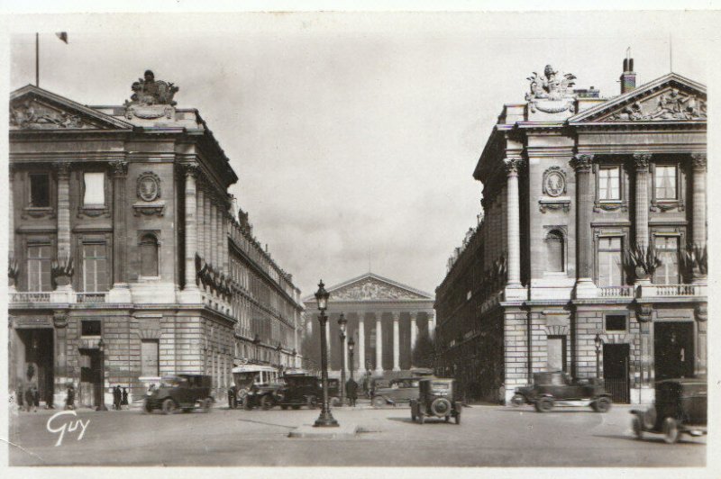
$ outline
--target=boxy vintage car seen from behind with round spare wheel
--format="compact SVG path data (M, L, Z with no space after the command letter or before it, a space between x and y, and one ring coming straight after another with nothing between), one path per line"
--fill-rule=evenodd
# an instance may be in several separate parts
M461 424L461 402L455 401L455 380L424 378L418 380L418 398L411 400L411 420L421 424L426 417L443 419L455 418Z

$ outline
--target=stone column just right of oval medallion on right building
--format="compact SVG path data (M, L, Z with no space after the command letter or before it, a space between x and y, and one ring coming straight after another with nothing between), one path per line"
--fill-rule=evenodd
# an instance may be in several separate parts
M576 170L576 297L592 298L597 295L593 282L593 238L591 236L591 212L593 188L591 165L593 155L576 155L570 161Z

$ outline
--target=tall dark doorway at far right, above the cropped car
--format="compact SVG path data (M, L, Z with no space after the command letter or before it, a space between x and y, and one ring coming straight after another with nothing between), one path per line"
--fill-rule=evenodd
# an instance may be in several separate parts
M693 376L693 322L653 323L656 381Z

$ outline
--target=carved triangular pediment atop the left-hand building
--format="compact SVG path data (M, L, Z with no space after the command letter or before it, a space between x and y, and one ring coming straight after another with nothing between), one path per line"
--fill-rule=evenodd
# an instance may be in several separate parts
M10 95L10 130L132 129L105 113L37 86L24 86Z

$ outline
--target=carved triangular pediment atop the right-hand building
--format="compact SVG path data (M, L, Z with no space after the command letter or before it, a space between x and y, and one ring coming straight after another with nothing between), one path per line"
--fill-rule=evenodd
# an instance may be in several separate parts
M585 122L706 122L706 87L671 73L569 119Z

